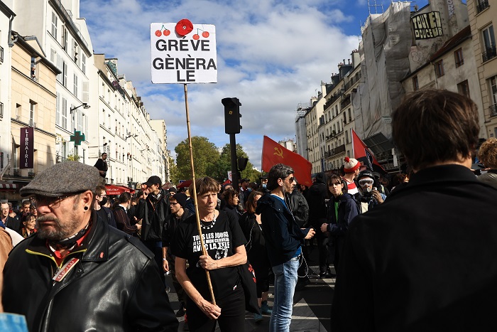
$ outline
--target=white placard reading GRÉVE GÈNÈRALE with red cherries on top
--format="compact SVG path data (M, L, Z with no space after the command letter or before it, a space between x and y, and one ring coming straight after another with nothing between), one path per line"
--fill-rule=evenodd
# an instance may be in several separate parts
M151 23L153 83L217 82L216 27L178 23Z

